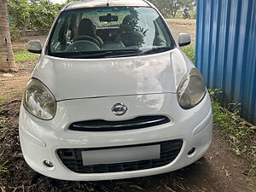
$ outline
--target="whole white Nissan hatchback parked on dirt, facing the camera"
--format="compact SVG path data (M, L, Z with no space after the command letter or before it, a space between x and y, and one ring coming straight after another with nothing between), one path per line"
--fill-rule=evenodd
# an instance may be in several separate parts
M64 180L172 172L212 139L212 106L199 73L160 12L144 0L69 3L49 32L20 107L29 166Z

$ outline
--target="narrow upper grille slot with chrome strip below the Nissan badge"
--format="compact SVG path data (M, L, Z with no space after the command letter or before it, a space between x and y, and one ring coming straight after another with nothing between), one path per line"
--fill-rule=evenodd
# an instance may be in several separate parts
M135 119L108 121L102 119L76 122L69 126L73 131L122 131L147 128L170 122L166 116L142 116Z

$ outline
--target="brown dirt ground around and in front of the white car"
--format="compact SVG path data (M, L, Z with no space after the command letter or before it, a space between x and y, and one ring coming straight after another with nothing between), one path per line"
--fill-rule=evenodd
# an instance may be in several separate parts
M175 37L188 32L195 39L195 20L168 20ZM25 46L25 38L14 47ZM45 37L37 37L43 42ZM188 192L246 192L256 191L256 175L248 161L232 151L230 143L214 127L212 146L204 158L177 172L151 177L140 177L104 182L67 182L44 177L26 165L20 151L18 117L21 92L36 62L18 63L19 73L0 74L0 97L12 99L0 102L0 120L8 118L3 129L0 125L0 162L9 160L9 172L0 172L0 192L9 191L188 191ZM11 77L8 77L11 76ZM18 93L17 96L13 96ZM250 176L250 177L249 177Z

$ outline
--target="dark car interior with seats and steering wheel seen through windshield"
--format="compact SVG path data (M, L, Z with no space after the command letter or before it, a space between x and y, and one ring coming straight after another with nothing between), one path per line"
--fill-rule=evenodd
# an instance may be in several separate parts
M95 15L94 15L95 16ZM122 18L119 18L123 16ZM88 15L72 15L60 20L51 43L51 49L56 52L85 52L98 50L140 49L150 43L152 47L166 47L166 38L160 26L160 17L147 26L145 20L139 20L137 15L100 15L94 23ZM142 24L147 28L142 28ZM99 26L99 23L104 24ZM59 29L58 29L59 27ZM154 28L154 30L153 30ZM150 33L148 35L148 33ZM154 34L153 34L154 33Z

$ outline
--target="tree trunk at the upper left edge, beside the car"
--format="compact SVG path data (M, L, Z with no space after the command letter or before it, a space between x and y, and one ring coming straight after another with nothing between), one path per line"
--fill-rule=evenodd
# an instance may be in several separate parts
M9 33L7 0L0 0L0 71L17 72Z

